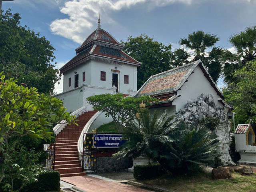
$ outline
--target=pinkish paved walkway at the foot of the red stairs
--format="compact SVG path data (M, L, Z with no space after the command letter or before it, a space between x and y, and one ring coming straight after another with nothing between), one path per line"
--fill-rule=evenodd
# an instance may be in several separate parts
M150 192L149 190L136 188L127 184L102 180L87 175L62 177L60 179L87 192Z

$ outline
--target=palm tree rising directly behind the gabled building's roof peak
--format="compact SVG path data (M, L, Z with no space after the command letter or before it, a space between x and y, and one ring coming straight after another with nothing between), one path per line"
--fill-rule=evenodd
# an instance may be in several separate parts
M174 65L181 66L184 63L186 64L201 59L214 82L218 82L218 78L221 74L221 56L223 50L214 45L219 40L216 35L204 33L203 31L188 34L188 38L180 39L179 44L182 45L183 48L176 49L174 52ZM186 51L184 47L187 48L188 51ZM212 50L207 52L208 48L211 47Z

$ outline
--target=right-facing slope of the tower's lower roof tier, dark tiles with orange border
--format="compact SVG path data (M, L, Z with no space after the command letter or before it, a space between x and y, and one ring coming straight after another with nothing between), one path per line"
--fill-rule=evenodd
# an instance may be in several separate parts
M99 56L106 56L114 59L124 60L128 62L134 62L137 64L140 64L140 62L134 60L132 57L128 56L126 53L124 53L121 50L116 50L104 46L96 46L92 54L96 54Z

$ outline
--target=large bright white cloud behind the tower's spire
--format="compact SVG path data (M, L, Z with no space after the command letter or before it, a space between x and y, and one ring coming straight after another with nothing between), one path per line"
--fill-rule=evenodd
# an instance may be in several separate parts
M56 0L58 2L60 0ZM96 26L98 13L100 13L106 24L113 24L115 21L110 17L111 12L134 6L144 5L148 8L166 6L173 3L191 4L204 0L70 0L60 8L60 12L67 14L69 18L56 19L50 24L54 34L71 39L74 42L82 43L86 33L93 26Z

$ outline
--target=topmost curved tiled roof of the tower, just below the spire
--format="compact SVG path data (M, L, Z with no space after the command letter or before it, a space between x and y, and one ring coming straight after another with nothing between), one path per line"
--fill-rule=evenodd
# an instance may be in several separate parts
M92 40L100 40L100 41L116 44L119 46L123 46L117 40L115 40L108 32L106 32L105 30L103 30L101 28L97 28L94 32L92 32L92 34L90 34L88 36L88 38L82 43L82 45L80 47L88 44Z

